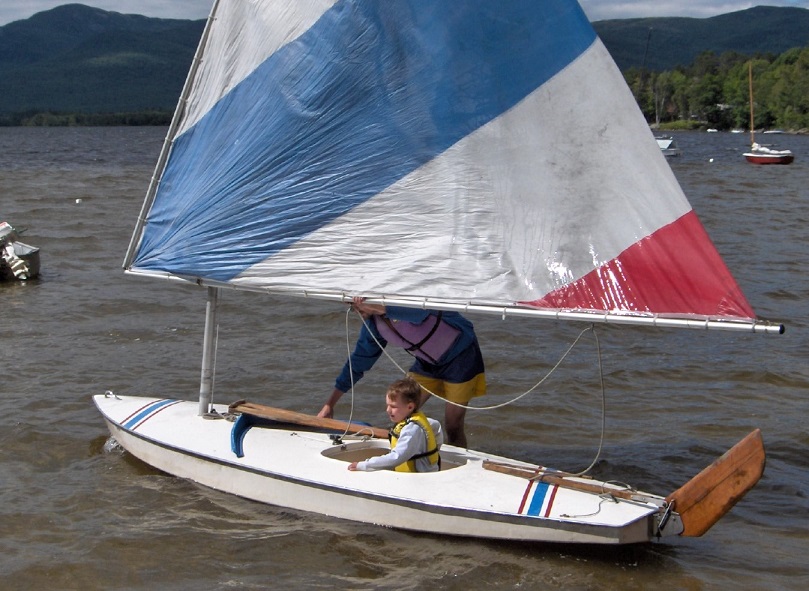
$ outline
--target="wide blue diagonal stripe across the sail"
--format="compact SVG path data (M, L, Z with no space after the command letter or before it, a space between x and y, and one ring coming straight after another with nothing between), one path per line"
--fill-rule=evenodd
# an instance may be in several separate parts
M133 266L232 279L506 112L594 39L570 0L338 2L176 139Z

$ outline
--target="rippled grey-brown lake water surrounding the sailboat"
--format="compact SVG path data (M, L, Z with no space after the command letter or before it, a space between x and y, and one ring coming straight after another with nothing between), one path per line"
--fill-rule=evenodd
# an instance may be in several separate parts
M666 494L760 427L761 482L702 538L629 548L442 538L260 505L153 470L108 439L90 396L196 399L205 293L121 263L163 128L0 128L0 219L42 273L0 284L0 588L91 590L809 588L809 137L681 133L671 166L759 316L787 332L597 327L606 383L593 474ZM764 138L762 138L764 139ZM541 379L575 323L471 319L495 404ZM349 330L356 334L356 324ZM215 399L316 412L346 354L344 307L227 291ZM405 363L405 360L401 360ZM385 423L384 359L355 413ZM338 414L347 415L346 404ZM441 418L440 405L428 412ZM474 448L581 470L601 429L590 336L518 404L471 412Z

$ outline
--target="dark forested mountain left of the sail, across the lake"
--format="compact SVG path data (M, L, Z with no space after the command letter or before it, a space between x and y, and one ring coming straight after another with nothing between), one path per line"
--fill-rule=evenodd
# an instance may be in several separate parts
M0 27L0 123L46 122L54 112L70 113L68 122L112 113L165 122L203 27L81 4Z

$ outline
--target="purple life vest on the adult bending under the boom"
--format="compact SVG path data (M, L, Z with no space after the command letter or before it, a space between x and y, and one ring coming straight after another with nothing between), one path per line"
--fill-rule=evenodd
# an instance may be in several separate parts
M441 320L441 312L430 315L421 324L374 316L379 334L414 357L435 365L450 350L461 331Z

